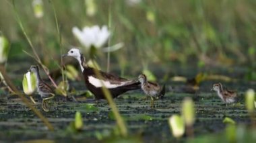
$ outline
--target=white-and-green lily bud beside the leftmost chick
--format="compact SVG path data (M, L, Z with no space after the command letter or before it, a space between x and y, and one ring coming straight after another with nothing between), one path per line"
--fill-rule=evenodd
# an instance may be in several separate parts
M23 77L22 87L26 95L32 95L36 91L36 75L31 72L26 73Z

